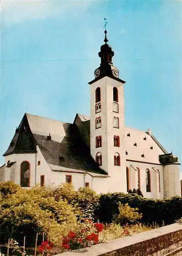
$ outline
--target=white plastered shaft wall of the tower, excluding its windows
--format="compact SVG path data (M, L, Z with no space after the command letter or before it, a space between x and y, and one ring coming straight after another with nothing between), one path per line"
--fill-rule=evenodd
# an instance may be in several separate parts
M95 113L95 92L101 89L101 112ZM113 87L118 89L119 113L113 112ZM102 119L102 127L96 129L95 120ZM113 117L119 118L119 129L113 127ZM102 168L108 173L108 192L126 192L126 162L124 141L124 90L123 83L104 77L90 84L90 151L93 158L102 154ZM113 136L120 136L120 147L113 146ZM96 137L102 136L102 147L96 148ZM120 154L121 166L114 165L115 153ZM104 181L105 183L105 181Z

